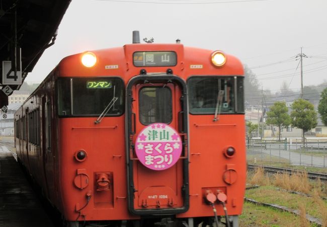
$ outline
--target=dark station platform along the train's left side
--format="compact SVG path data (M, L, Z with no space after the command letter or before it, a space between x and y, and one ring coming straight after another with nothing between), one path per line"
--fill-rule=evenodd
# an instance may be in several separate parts
M14 158L16 150L0 138L0 226L55 227Z

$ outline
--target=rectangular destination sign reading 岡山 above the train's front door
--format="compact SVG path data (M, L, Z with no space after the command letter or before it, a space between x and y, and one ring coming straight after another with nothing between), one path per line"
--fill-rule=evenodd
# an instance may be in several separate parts
M134 52L133 64L136 67L176 66L177 54L174 51Z

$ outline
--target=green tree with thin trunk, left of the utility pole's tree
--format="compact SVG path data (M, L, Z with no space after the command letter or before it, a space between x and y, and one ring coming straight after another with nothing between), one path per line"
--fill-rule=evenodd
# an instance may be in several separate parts
M268 125L278 127L278 141L280 141L280 132L282 128L286 128L291 124L291 117L288 115L288 108L286 102L275 102L270 110L267 112Z

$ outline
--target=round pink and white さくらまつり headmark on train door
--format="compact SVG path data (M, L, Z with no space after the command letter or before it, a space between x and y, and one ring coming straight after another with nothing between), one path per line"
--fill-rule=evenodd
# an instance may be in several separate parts
M154 123L146 126L135 142L136 156L153 170L172 167L182 153L182 140L176 130L167 124Z

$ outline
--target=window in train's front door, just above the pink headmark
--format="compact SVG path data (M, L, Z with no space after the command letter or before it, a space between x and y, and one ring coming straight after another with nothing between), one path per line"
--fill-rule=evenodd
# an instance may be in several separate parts
M172 121L172 91L168 87L144 87L139 91L139 118L143 125Z

